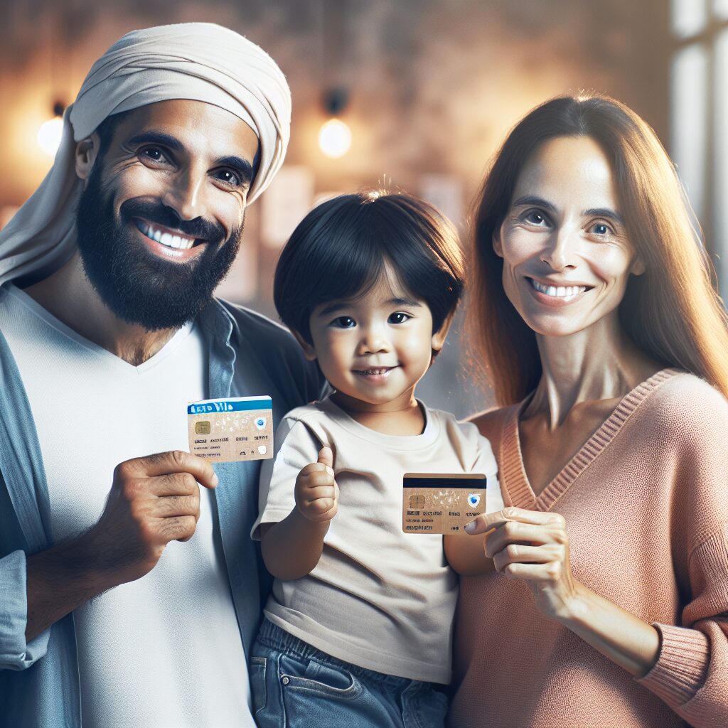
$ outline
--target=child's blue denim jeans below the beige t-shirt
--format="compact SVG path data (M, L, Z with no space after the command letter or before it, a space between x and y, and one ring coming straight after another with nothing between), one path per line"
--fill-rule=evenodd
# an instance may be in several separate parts
M442 728L432 684L336 660L264 620L250 651L258 728Z

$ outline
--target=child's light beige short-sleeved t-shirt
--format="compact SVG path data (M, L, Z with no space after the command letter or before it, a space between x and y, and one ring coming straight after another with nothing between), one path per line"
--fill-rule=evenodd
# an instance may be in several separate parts
M500 501L490 443L470 423L424 408L422 435L384 435L331 400L290 411L276 432L280 448L261 471L261 523L282 521L296 506L301 468L333 449L339 511L310 574L275 579L266 617L345 662L414 680L449 683L457 577L437 534L402 531L405 472L479 472L488 498ZM497 506L499 507L499 506ZM492 510L488 504L488 510Z

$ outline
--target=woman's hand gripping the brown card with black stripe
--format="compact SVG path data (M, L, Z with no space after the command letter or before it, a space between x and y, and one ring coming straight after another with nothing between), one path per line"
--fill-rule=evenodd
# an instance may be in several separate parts
M486 556L508 579L524 579L546 617L563 619L581 586L571 574L566 521L558 513L508 507L479 515L465 530L491 533L485 539Z

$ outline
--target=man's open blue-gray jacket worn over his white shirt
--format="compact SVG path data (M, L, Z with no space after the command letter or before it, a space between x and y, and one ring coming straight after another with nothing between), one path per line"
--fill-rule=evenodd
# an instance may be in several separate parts
M0 288L1 297L7 295ZM274 428L316 399L322 381L290 334L265 317L213 301L197 323L210 351L207 397L271 395ZM52 373L49 375L52 386ZM246 654L269 590L250 528L258 513L259 462L218 463L215 501ZM33 415L0 332L0 725L81 725L74 615L26 644L25 554L53 544L50 502Z

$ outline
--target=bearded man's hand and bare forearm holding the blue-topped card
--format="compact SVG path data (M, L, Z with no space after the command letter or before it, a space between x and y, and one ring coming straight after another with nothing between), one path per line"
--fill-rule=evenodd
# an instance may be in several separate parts
M215 488L212 465L175 450L116 466L98 523L82 536L28 556L30 640L98 594L154 569L165 546L187 541L199 518L199 486Z

